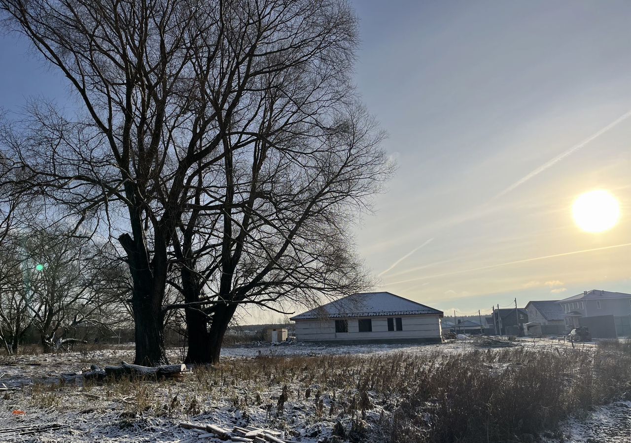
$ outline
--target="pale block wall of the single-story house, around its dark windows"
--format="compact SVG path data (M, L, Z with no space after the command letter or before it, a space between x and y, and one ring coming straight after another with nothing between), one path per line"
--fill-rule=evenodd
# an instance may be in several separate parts
M387 317L372 319L372 332L360 332L358 318L348 319L348 332L335 331L335 319L296 320L296 340L300 342L396 340L440 338L440 318L437 315L400 316L402 331L388 331ZM396 328L396 326L395 326Z

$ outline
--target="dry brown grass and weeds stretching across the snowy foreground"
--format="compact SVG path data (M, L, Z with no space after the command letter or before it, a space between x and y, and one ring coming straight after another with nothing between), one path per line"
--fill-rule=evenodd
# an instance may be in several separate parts
M631 400L631 342L589 349L225 359L196 368L182 383L35 384L30 394L41 407L72 409L79 407L70 398L80 396L78 390L117 403L120 425L143 417L194 420L228 408L243 423L289 435L324 424L333 427L333 441L532 442L572 413L625 393ZM295 421L296 411L302 421Z

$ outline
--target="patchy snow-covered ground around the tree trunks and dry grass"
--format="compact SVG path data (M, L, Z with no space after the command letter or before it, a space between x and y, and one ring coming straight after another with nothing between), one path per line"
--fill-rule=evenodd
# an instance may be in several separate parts
M568 347L569 343L551 340L522 340L533 350ZM582 346L582 345L581 345ZM586 348L593 345L586 344ZM121 381L82 386L78 379L59 384L59 377L89 367L131 362L133 350L108 349L66 354L20 355L0 357L0 441L7 442L218 442L205 432L182 429L182 421L211 423L232 429L233 425L254 425L283 432L288 440L305 443L329 442L335 425L327 401L317 409L321 386L308 384L312 393L305 393L304 384L288 386L288 401L278 413L283 387L283 374L288 370L270 370L269 379L239 377L234 374L257 371L276 357L290 359L297 365L308 365L310 357L350 355L375 358L380 355L414 355L419 361L437 354L459 354L475 350L471 342L451 342L436 345L339 345L324 346L304 343L258 344L223 349L220 367L207 372L192 372L184 381ZM177 361L180 350L171 350L170 358ZM424 357L427 357L425 359ZM274 372L276 371L276 372ZM285 372L283 372L285 371ZM267 374L268 372L266 372ZM232 375L231 375L232 374ZM21 386L19 389L11 389ZM8 389L6 389L8 388ZM324 387L322 387L324 389ZM355 396L356 389L337 393L339 404L343 396ZM335 400L335 391L333 400ZM372 440L377 441L379 423L387 415L387 403L369 392L365 422L371 426ZM315 398L315 400L314 400ZM324 397L323 397L324 398ZM315 403L314 403L315 401ZM354 401L354 400L353 400ZM314 408L314 405L315 408ZM350 407L350 406L349 406ZM23 412L23 413L21 413ZM579 420L572 418L563 427L564 443L631 442L631 402L618 401L595 408ZM42 430L43 426L54 429ZM376 433L376 434L375 434ZM206 435L200 435L206 434ZM558 435L557 435L558 437ZM557 443L561 440L547 440Z

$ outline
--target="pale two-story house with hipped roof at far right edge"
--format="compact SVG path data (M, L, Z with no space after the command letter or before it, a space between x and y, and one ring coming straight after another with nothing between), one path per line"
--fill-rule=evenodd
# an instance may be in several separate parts
M568 328L580 326L582 317L611 315L618 337L631 335L631 294L592 289L558 303Z

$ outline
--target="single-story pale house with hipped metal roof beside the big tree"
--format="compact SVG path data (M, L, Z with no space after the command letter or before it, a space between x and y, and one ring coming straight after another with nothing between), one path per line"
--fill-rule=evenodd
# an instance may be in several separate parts
M440 342L443 313L390 292L363 292L290 318L299 342Z

